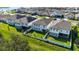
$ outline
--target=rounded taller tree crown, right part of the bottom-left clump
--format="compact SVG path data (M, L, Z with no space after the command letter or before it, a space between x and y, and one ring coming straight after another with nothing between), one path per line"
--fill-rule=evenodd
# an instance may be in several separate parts
M19 35L12 36L12 40L9 42L9 47L14 51L26 51L29 50L28 42L21 38Z

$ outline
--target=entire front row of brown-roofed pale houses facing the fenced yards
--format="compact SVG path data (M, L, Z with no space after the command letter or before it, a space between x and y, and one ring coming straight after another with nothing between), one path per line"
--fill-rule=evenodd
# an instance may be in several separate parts
M49 35L55 37L68 38L71 31L71 24L65 19L53 20L50 18L34 18L32 16L23 16L16 14L0 15L0 21L4 21L16 28L29 28L35 31L49 31Z

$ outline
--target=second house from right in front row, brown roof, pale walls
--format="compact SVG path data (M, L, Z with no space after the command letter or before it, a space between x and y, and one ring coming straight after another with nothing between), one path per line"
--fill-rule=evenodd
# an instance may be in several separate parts
M38 21L34 22L32 24L32 29L36 31L43 31L49 29L50 26L48 26L51 23L51 19L47 18L42 18L42 19L37 19Z

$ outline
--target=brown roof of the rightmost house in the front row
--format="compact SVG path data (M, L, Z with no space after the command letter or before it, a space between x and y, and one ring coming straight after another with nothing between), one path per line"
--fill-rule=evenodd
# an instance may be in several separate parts
M71 23L69 23L66 20L58 20L58 21L53 21L51 27L56 28L56 29L70 30Z

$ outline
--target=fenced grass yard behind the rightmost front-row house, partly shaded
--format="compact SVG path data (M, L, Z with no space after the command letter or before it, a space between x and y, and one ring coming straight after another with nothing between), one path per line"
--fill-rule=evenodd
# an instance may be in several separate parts
M55 37L52 37L52 36L48 36L47 39L51 40L51 41L54 41L54 42L58 42L58 43L64 44L64 45L67 45L67 46L70 45L70 42L68 41L68 39L55 38Z

